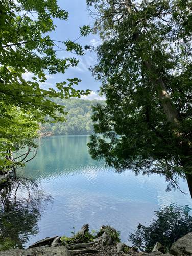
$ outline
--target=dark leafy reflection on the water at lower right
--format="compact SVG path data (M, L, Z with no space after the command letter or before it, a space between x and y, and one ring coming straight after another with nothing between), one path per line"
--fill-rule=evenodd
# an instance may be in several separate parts
M160 242L167 253L175 241L192 231L190 211L188 206L165 206L155 211L155 218L148 227L139 223L136 232L130 234L130 240L146 252L151 252L156 242Z

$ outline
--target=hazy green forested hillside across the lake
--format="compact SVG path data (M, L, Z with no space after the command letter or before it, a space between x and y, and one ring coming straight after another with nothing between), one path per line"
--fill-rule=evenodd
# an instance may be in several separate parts
M80 99L56 99L57 104L64 105L66 122L43 124L43 132L51 132L53 135L88 135L93 133L91 120L92 108L99 100L80 100Z

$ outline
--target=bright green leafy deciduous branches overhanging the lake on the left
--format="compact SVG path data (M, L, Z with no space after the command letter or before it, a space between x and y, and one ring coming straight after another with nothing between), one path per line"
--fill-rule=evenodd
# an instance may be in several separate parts
M82 46L74 41L59 42L50 38L49 32L56 29L55 18L63 21L68 18L68 12L60 9L56 0L3 0L0 3L1 171L7 172L18 165L13 151L26 146L30 150L36 148L34 139L39 137L40 123L64 120L64 106L56 104L52 98L89 94L89 90L73 88L81 81L78 78L69 78L49 89L40 86L47 75L65 73L67 68L78 65L76 58L58 58L58 49L84 54ZM89 26L80 28L81 36L89 32ZM32 79L23 78L26 72L32 74ZM24 157L28 154L29 150Z

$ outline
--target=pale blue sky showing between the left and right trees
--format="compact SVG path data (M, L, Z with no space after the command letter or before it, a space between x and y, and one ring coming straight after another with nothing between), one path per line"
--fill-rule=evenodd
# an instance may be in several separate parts
M69 12L68 21L54 20L57 28L50 34L53 40L65 41L67 39L75 40L80 36L79 26L90 25L93 26L94 20L90 17L86 6L86 0L58 0L58 5ZM81 37L77 42L82 46L84 45L97 45L99 43L99 37L97 35L90 34L87 37ZM58 45L63 48L62 44ZM97 56L94 52L86 51L84 56L77 56L69 52L57 52L60 58L65 57L77 57L80 59L77 68L69 68L65 74L56 74L47 80L47 85L51 85L55 82L61 82L66 78L78 77L82 80L77 86L79 89L90 89L96 92L100 87L100 82L95 81L88 70L88 67L94 65L97 61ZM44 85L46 86L46 85ZM94 93L88 98L98 98Z

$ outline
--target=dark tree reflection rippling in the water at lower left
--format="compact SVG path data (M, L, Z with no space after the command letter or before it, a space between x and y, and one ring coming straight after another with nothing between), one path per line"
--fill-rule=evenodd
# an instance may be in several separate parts
M45 196L32 181L20 181L0 190L0 250L23 248L30 235L38 233Z

